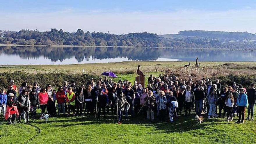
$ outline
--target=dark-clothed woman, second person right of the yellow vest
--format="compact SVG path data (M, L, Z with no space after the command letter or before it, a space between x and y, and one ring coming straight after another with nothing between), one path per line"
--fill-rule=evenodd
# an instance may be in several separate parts
M84 96L84 115L90 112L90 114L93 114L93 109L92 109L92 86L88 85L86 86L85 90L83 91L83 96Z

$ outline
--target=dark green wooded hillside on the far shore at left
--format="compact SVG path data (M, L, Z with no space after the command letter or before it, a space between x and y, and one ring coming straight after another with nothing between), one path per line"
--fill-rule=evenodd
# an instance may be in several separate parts
M162 47L162 42L154 33L128 33L115 35L109 33L90 33L78 29L76 33L51 29L39 32L35 30L21 30L19 32L5 31L0 37L1 44L19 45L86 45L86 46L135 46Z

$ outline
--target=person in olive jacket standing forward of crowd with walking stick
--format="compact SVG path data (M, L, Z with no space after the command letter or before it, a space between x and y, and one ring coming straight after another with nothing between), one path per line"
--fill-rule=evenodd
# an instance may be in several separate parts
M118 124L121 124L122 116L125 111L125 106L130 107L130 104L125 99L123 92L119 92L117 95L118 97L117 97L117 101L115 102L115 105L117 105L117 109L118 109Z

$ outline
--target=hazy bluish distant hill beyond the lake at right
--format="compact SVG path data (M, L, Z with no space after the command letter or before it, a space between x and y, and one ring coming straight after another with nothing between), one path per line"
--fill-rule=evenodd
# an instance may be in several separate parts
M159 37L166 47L256 49L256 35L248 32L196 30Z

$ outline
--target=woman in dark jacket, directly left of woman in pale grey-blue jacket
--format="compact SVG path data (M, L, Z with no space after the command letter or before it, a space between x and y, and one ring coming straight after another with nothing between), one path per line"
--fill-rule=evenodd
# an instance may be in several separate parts
M156 98L153 96L153 92L150 90L148 91L147 97L144 98L146 101L146 112L147 112L147 119L150 120L151 116L151 121L154 121L154 110L155 110L155 100Z

